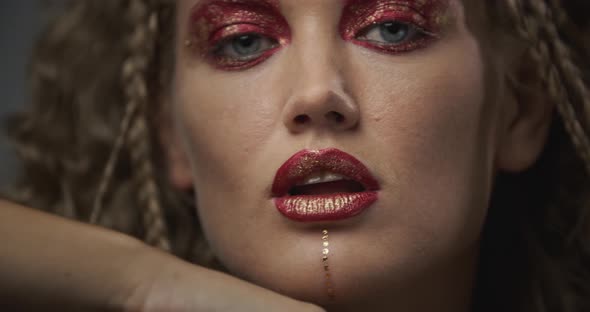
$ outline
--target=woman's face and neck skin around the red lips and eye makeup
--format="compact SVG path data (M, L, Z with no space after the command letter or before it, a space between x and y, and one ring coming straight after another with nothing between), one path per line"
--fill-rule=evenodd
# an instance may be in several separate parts
M521 54L491 54L483 8L451 0L438 40L385 54L342 39L342 1L281 0L291 42L228 71L183 44L197 2L178 2L163 142L170 179L195 189L228 270L329 310L467 311L494 176L535 161L551 116L542 99L507 88L523 74L508 70ZM344 121L326 118L332 111ZM270 196L276 170L302 149L331 147L369 168L379 200L343 222L285 219ZM335 300L323 286L324 228Z

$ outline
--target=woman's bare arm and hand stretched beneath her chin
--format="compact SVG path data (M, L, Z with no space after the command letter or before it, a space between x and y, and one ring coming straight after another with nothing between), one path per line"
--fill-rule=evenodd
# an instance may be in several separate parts
M0 310L298 311L319 307L139 240L0 201Z

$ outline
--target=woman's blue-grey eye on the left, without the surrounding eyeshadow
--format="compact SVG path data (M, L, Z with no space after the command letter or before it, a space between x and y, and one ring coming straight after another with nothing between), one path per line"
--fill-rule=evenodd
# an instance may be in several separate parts
M217 57L247 61L255 59L264 52L277 47L276 40L251 33L239 34L224 39L213 50Z

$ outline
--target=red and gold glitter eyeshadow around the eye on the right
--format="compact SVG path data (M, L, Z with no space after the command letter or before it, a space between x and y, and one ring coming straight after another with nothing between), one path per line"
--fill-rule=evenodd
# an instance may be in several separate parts
M385 53L412 51L438 37L448 22L449 0L348 0L340 23L342 38ZM372 26L397 22L416 28L421 36L400 43L377 43L358 36Z

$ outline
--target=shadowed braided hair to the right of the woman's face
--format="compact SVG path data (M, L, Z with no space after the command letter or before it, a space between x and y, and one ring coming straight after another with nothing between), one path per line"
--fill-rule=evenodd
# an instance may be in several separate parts
M590 311L590 46L588 15L576 15L589 5L487 3L492 23L527 48L523 58L541 82L533 91L558 114L536 164L497 178L482 235L477 311Z

